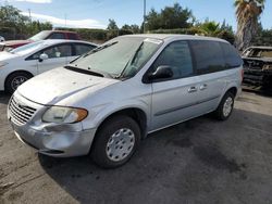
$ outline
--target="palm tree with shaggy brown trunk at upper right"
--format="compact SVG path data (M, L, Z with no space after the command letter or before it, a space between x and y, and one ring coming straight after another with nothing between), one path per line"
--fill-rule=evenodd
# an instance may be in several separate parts
M258 21L264 9L265 0L235 0L237 17L236 47L244 50L250 46L258 30Z

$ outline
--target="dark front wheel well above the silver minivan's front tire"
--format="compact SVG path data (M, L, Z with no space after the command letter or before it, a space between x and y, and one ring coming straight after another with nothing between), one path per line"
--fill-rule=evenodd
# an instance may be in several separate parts
M121 110L121 111L118 111L118 112L111 114L100 124L99 128L102 127L102 125L107 120L109 120L110 118L112 118L116 115L126 115L126 116L132 117L139 125L141 137L144 138L146 136L147 116L146 116L144 111L141 111L140 109L136 109L136 107ZM99 130L99 128L98 128L98 130ZM98 130L97 130L97 132L98 132Z

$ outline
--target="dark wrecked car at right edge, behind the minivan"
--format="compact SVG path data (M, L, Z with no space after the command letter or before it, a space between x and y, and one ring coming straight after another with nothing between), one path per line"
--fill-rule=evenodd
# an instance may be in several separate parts
M244 84L272 90L272 47L250 47L243 52Z

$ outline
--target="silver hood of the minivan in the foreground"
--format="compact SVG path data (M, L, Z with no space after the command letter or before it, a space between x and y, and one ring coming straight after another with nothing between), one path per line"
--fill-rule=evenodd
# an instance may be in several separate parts
M88 94L91 94L115 82L118 82L115 79L96 77L61 67L32 78L18 87L17 93L36 103L54 105L83 90L88 89Z

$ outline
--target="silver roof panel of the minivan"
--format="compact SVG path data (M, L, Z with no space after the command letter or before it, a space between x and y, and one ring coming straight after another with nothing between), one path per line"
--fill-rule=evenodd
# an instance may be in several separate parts
M215 40L215 41L223 41L226 42L223 39L220 38L212 38L212 37L205 37L205 36L194 36L194 35L177 35L177 34L137 34L137 35L127 35L133 37L146 37L146 38L157 38L161 40L165 39L186 39L186 40Z

